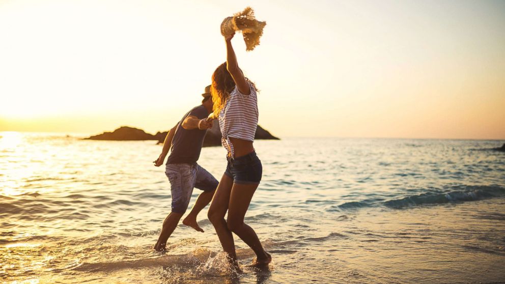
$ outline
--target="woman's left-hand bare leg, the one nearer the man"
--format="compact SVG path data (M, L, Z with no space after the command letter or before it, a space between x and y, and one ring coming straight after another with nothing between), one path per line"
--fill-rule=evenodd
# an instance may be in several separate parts
M212 198L209 213L207 214L212 225L216 229L217 236L221 242L223 250L228 254L232 265L238 268L237 253L235 252L235 242L233 235L225 220L226 211L230 202L230 193L233 186L233 180L223 175L219 185L217 186L216 193Z

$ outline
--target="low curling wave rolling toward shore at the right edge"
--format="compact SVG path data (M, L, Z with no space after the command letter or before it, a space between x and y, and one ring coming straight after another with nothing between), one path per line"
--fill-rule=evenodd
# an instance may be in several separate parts
M370 200L360 202L358 201L346 202L344 204L339 205L338 209L340 210L359 209L362 207L375 207L375 206L385 206L388 208L402 209L423 205L437 205L446 203L478 201L503 196L505 196L505 188L501 186L457 186L452 187L451 189L445 191L409 195L402 198L383 202L370 202Z

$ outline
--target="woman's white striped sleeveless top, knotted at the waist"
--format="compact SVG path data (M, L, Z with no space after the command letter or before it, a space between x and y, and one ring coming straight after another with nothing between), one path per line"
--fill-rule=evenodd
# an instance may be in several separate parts
M219 129L221 130L222 146L233 157L233 144L230 137L254 141L256 128L258 127L258 98L256 88L249 82L250 94L241 94L235 86L225 107L219 112Z

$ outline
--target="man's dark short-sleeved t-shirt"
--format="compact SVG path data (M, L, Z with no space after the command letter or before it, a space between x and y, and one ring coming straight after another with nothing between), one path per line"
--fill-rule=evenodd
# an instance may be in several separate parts
M202 145L204 143L204 137L207 130L195 129L184 129L182 127L182 122L188 116L195 116L198 119L205 119L209 116L209 112L203 105L199 105L191 109L184 117L181 119L172 139L171 153L169 159L166 161L167 164L180 164L180 163L194 163L198 161L200 157L200 152L202 151Z

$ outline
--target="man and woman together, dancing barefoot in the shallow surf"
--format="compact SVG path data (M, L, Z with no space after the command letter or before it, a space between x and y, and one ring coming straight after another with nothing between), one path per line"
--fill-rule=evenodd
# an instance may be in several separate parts
M233 35L225 37L227 61L212 74L212 85L202 94L202 105L191 109L170 130L160 156L154 161L155 166L162 165L169 148L172 149L165 171L171 184L172 212L163 221L154 249L166 249L166 241L186 211L193 187L196 187L204 192L198 196L183 224L203 232L197 215L212 200L208 218L230 263L238 268L232 232L256 253L253 265L266 265L271 256L263 249L255 231L244 223L245 213L261 180L262 165L253 147L258 125L257 89L238 67L232 38ZM222 145L228 151L228 165L219 183L197 164L205 133L215 119L219 121Z

